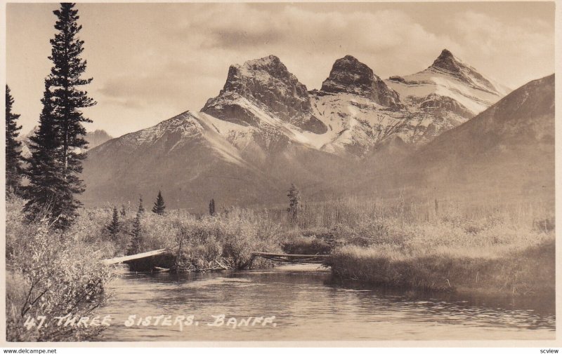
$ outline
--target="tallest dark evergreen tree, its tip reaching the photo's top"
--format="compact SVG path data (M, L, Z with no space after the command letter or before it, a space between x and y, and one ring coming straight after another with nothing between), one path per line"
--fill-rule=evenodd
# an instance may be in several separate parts
M91 120L84 117L80 109L96 104L86 91L80 90L92 79L81 79L86 70L86 60L80 57L84 41L77 37L82 27L77 23L79 16L74 5L61 3L60 9L53 11L57 16L55 29L58 32L51 39L51 56L48 57L53 62L48 80L53 88L53 121L60 144L56 157L65 181L65 192L57 198L61 215L65 218L76 215L75 210L81 203L75 195L84 192L83 182L79 179L81 160L86 158L82 151L87 147L84 139L86 129L82 123L91 123Z

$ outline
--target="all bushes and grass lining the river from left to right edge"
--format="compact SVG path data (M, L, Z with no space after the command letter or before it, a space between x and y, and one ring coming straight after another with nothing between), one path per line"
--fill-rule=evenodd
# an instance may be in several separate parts
M110 270L99 260L126 254L136 208L80 210L66 231L25 223L23 201L8 200L8 330L15 340L88 339L96 329L22 330L26 315L91 313L103 304ZM336 278L421 290L554 296L554 212L540 203L466 207L426 200L348 198L286 208L222 208L211 215L145 210L139 252L168 248L182 271L272 266L251 252L331 254ZM181 247L180 247L181 244ZM31 245L31 246L30 246ZM179 251L179 252L178 252ZM31 269L31 271L30 271ZM74 295L67 296L65 294ZM78 294L78 296L77 296ZM79 300L77 300L79 299ZM19 330L18 330L19 328Z

